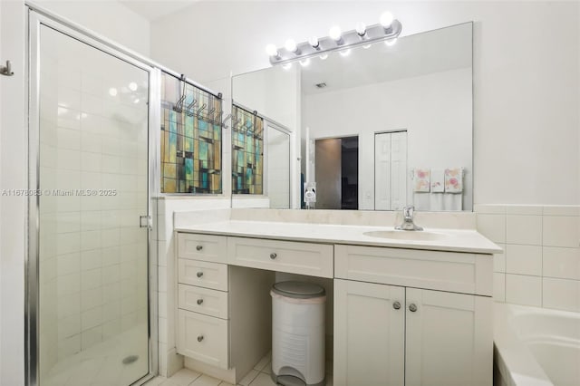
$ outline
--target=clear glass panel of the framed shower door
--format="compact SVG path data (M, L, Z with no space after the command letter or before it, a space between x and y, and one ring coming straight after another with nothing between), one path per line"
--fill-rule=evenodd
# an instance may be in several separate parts
M150 372L150 72L39 25L38 383L129 385Z

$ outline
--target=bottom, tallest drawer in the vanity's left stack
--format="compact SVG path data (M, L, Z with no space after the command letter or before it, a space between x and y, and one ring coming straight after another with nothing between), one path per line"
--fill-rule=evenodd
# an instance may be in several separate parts
M177 351L200 362L227 369L227 321L179 310Z

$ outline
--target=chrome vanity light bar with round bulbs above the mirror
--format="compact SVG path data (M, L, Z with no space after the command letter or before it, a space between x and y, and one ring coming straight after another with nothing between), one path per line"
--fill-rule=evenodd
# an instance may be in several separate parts
M344 32L339 42L336 42L330 36L319 38L316 48L309 42L297 43L295 52L288 51L285 47L280 47L277 49L277 55L270 56L270 63L272 65L291 63L296 60L304 60L305 58L318 56L321 53L330 53L353 48L357 45L393 39L399 36L401 31L402 24L397 19L392 21L389 28L383 27L382 24L372 24L366 27L366 34L363 36L357 33L356 30L351 30Z

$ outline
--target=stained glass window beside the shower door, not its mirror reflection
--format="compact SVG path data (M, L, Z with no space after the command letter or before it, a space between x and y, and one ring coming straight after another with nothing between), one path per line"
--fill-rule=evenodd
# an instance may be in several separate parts
M222 101L163 72L161 193L219 194Z

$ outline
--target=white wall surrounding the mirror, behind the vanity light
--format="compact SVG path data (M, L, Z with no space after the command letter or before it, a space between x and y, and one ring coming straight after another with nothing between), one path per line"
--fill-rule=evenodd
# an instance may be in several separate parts
M474 24L477 203L580 202L577 2L201 2L151 24L151 55L189 76L266 68L266 43L376 23L390 9L403 35ZM203 17L199 17L203 15ZM191 21L195 20L195 23ZM546 34L538 25L550 25ZM183 50L173 36L190 36ZM208 58L200 60L199 58Z

